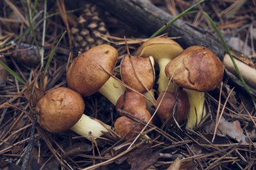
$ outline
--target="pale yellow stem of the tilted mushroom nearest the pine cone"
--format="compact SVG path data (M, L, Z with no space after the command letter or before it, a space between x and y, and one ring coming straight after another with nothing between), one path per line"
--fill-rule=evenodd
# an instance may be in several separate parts
M110 77L98 91L113 103L113 105L116 105L119 97L125 93L125 87L119 81Z

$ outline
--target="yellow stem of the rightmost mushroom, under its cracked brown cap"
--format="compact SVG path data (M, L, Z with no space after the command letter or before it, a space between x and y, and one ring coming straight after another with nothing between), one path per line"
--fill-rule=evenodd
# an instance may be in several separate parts
M187 114L187 128L195 128L205 116L204 92L183 89L189 97L189 112Z

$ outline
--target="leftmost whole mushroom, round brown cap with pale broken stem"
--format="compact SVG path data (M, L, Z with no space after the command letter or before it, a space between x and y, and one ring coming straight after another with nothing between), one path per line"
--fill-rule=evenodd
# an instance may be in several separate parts
M89 140L89 134L99 137L108 132L98 121L84 114L84 100L79 93L66 87L58 87L46 93L36 108L40 126L53 133L64 132L69 128Z

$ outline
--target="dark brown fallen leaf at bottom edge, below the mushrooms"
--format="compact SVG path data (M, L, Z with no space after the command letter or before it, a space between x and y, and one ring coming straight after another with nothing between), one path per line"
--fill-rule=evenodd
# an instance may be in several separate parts
M150 145L143 145L129 153L127 162L131 169L146 169L153 165L160 157L160 150L154 151Z

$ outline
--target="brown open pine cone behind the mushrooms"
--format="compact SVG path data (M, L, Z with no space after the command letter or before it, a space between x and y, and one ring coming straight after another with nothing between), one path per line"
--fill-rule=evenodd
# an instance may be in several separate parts
M75 50L84 52L93 46L108 44L95 33L108 34L104 22L99 17L96 5L86 4L86 9L82 15L77 18L77 26L71 28L72 41Z

